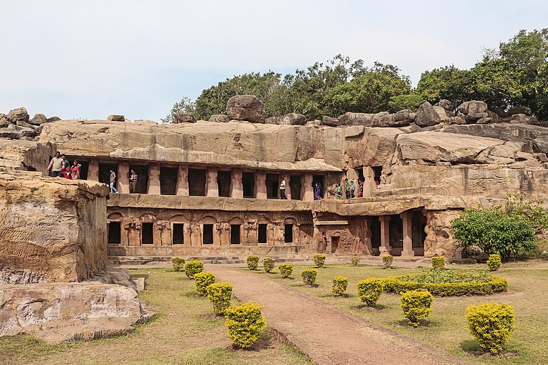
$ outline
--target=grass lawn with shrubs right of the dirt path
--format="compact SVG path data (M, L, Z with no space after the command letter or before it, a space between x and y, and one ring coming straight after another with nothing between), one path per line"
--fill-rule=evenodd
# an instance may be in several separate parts
M458 269L482 270L485 265L451 265ZM262 268L262 267L260 267ZM421 320L419 328L408 326L399 306L399 295L382 294L377 307L366 307L358 298L356 284L367 277L387 277L415 273L418 269L384 269L380 266L328 265L317 268L316 287L303 284L301 272L312 268L293 266L292 279L283 279L277 272L266 274L256 271L257 275L270 277L296 290L335 305L371 323L375 323L397 333L409 336L478 364L548 364L548 262L532 261L516 264L503 264L495 273L508 279L508 292L488 296L434 297L432 315ZM245 269L242 269L245 270ZM347 295L332 297L332 283L336 275L348 278ZM502 358L482 355L475 339L469 333L464 319L464 310L471 304L509 303L515 307L516 328L508 343L508 352Z

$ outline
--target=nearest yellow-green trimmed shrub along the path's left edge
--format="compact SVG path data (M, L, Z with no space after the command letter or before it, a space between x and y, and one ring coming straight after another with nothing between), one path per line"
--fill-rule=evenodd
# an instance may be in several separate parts
M225 310L225 325L228 328L228 337L236 346L247 349L259 338L266 320L261 315L261 306L250 301L229 307Z

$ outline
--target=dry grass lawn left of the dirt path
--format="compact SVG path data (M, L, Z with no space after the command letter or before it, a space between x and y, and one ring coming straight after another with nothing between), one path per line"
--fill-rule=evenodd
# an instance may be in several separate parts
M311 364L266 329L256 349L232 349L224 319L173 270L132 270L147 277L140 293L157 313L129 336L46 344L31 336L0 338L0 364Z

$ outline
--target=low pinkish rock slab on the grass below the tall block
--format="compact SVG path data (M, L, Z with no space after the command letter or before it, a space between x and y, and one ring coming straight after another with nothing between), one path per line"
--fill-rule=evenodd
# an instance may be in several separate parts
M99 283L0 286L0 336L30 333L47 342L95 340L150 318L135 290Z

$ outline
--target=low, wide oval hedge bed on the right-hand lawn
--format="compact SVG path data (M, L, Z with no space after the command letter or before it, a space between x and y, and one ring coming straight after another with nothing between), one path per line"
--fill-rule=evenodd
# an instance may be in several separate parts
M460 270L421 270L418 274L386 277L386 292L427 290L434 295L493 294L506 292L508 280L488 273L462 272Z

